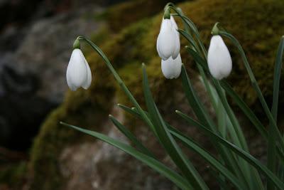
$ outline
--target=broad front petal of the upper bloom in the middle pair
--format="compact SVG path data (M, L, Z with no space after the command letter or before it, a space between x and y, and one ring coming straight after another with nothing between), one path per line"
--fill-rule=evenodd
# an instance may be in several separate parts
M170 19L163 19L157 38L157 51L163 60L167 60L177 49L178 35L173 29Z

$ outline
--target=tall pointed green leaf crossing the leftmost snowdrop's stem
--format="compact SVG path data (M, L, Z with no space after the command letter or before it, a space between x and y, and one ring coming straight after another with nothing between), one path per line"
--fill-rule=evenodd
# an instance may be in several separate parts
M165 122L163 121L160 112L158 112L153 100L151 90L148 85L145 65L143 65L143 91L151 121L154 124L153 126L157 132L158 139L165 148L165 151L173 159L173 162L175 162L180 171L182 171L182 174L190 182L190 184L195 186L195 189L208 189L200 174L198 174L190 161L186 159L185 154L182 153L180 147L178 147L178 144L175 142L175 139L173 139L170 132L168 132Z

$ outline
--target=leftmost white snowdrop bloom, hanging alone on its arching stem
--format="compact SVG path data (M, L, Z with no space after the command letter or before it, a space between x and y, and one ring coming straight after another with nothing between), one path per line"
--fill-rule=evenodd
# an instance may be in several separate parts
M75 48L72 51L67 67L66 79L69 88L73 91L80 87L87 90L89 85L91 85L92 73L80 48Z

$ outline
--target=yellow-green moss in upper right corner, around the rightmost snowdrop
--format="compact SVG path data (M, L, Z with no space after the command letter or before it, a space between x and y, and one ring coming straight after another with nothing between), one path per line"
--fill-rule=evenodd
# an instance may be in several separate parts
M234 9L232 9L234 7ZM209 31L216 21L239 40L249 58L253 73L268 100L273 94L273 64L280 37L283 35L284 1L195 1L183 11L197 23L204 41L209 42ZM233 56L234 68L229 81L249 105L256 104L249 77L236 48L227 43ZM207 43L208 45L208 43ZM283 83L280 89L283 89ZM283 93L283 92L282 92ZM283 103L284 100L280 100Z

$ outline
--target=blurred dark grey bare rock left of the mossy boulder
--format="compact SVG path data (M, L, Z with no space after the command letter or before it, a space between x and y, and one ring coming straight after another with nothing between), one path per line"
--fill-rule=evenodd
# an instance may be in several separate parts
M0 146L31 146L40 123L63 100L73 41L102 26L93 19L101 11L91 4L2 31L0 41L6 47L0 48Z

